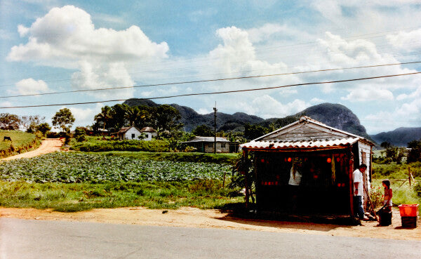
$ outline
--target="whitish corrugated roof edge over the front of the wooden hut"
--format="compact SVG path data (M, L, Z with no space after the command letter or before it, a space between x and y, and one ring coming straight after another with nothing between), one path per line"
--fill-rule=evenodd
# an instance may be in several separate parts
M284 148L312 148L312 147L340 147L352 145L360 138L340 138L336 140L297 140L297 141L273 141L273 140L252 140L241 144L240 147L250 149L284 149Z

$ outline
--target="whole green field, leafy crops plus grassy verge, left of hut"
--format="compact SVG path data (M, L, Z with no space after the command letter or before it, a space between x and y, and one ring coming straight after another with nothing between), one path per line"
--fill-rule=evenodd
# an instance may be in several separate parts
M223 208L243 201L227 164L154 161L55 152L0 164L0 206L81 211L91 208Z

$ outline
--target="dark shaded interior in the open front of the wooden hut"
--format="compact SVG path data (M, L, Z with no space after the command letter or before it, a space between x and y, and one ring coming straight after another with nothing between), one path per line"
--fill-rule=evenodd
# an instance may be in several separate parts
M255 159L258 210L349 214L348 163L343 150L256 152Z

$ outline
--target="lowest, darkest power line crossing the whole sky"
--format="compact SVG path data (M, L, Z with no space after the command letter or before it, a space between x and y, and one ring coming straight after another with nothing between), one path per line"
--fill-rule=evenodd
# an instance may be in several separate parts
M182 95L168 95L168 96L161 96L161 97L152 97L152 98L131 98L135 100L156 100L156 99L166 99L166 98L176 98L176 97L185 97L185 96L194 96L194 95L215 95L221 93L241 93L241 92L248 92L248 91L261 91L261 90L269 90L269 89L276 89L276 88L285 88L285 87L293 87L293 86L308 86L312 84L333 84L333 83L343 83L349 81L361 81L361 80L369 80L369 79L380 79L386 77L401 77L401 76L408 76L411 74L421 74L421 72L413 72L413 73L406 73L406 74L389 74L386 76L379 76L379 77L363 77L358 79L345 79L345 80L336 80L336 81L322 81L322 82L313 82L313 83L302 83L302 84L289 84L285 86L270 86L264 88L251 88L251 89L243 89L243 90L232 90L232 91L220 91L220 92L210 92L210 93L186 93ZM60 104L51 104L51 105L26 105L26 106L13 106L13 107L0 107L0 109L12 109L12 108L29 108L29 107L51 107L51 106L61 106L61 105L88 105L93 103L100 103L100 102L121 102L126 101L128 99L116 99L116 100L102 100L102 101L93 101L93 102L71 102L71 103L60 103Z

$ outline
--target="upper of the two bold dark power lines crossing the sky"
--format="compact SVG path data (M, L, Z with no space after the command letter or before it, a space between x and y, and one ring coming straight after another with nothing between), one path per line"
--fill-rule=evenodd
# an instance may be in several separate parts
M249 77L231 77L231 78L224 78L224 79L207 79L207 80L182 81L182 82L163 83L163 84L147 84L147 85L141 85L141 86L119 86L119 87L109 87L109 88L61 91L61 92L52 92L52 93L32 93L32 94L27 94L27 95L8 95L8 96L0 96L0 98L16 98L16 97L25 97L25 96L55 95L55 94L60 94L60 93L80 93L80 92L88 92L88 91L106 91L106 90L115 90L115 89L124 89L124 88L151 87L151 86L170 86L170 85L176 85L176 84L194 84L194 83L204 83L204 82L210 82L210 81L227 81L227 80L234 80L234 79L251 79L251 78L259 78L259 77L275 77L275 76L285 76L285 75L290 75L290 74L306 74L306 73L313 73L313 72L327 72L327 71L335 71L335 70L360 69L360 68L368 68L368 67L386 67L386 66L394 66L394 65L416 64L416 63L421 63L421 61L399 62L399 63L383 64L383 65L368 65L368 66L361 66L361 67L342 67L342 68L332 68L332 69L319 69L319 70L309 70L309 71L291 72L291 73L282 73L282 74L265 74L265 75L258 75L258 76L249 76Z

